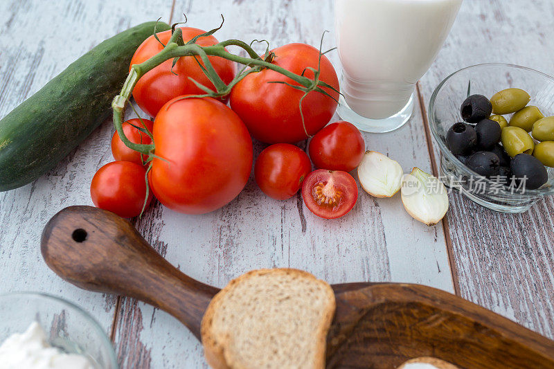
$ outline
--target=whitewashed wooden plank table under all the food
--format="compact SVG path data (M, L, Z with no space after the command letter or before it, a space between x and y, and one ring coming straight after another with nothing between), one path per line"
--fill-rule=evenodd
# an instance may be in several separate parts
M129 26L162 17L210 29L220 40L269 39L318 45L333 30L332 0L2 0L0 117L77 57ZM434 87L449 73L481 62L510 62L554 75L552 0L465 0L443 50L422 78L409 123L390 134L366 134L369 150L404 171L436 168L436 148L423 116ZM334 34L325 38L334 46ZM330 59L340 70L336 53ZM0 193L0 293L44 291L80 305L114 341L122 368L200 368L202 346L168 314L134 299L82 291L44 264L39 237L65 206L91 204L89 183L112 161L106 122L34 183ZM262 150L255 145L255 154ZM398 197L360 192L345 217L313 216L301 197L274 201L253 181L228 206L189 216L156 204L136 226L172 264L223 287L262 267L305 269L331 283L415 282L451 291L554 338L552 198L523 215L502 215L453 194L444 221L427 227L406 215Z

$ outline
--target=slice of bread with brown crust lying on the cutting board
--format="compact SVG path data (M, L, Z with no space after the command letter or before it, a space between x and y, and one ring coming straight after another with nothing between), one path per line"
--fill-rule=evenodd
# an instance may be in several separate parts
M326 282L296 269L260 269L231 280L202 318L215 369L324 368L334 315Z

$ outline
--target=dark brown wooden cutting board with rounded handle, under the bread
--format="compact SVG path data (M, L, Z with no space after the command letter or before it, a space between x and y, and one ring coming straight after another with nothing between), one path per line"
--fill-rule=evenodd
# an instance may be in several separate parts
M117 215L71 206L44 228L48 267L83 289L138 298L168 312L200 339L219 289L163 259ZM445 291L404 283L333 285L329 368L396 368L438 357L461 368L554 368L554 341Z

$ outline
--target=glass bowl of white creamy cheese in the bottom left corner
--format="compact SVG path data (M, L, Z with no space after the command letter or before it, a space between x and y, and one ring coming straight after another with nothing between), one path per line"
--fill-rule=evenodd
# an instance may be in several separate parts
M0 367L116 369L106 332L80 307L47 294L0 295Z

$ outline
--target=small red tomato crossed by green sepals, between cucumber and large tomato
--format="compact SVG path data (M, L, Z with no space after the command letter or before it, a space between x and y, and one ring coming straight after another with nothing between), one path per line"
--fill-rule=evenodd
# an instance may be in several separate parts
M154 122L152 120L143 119L144 125L152 133L152 126ZM139 131L135 127L144 128L143 123L139 118L129 119L127 122L123 122L123 132L125 136L129 138L129 141L132 143L143 143L145 145L150 145L152 143L152 138L148 136L145 132ZM120 161L132 161L139 165L143 165L143 161L146 162L148 155L143 155L141 160L141 153L136 152L129 147L125 146L125 143L119 138L117 131L114 133L114 136L111 137L111 154L114 155L114 159Z

